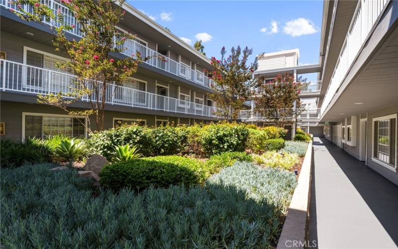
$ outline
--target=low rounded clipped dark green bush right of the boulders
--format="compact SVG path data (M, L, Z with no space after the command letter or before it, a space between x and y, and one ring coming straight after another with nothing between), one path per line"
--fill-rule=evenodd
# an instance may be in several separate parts
M148 157L113 163L101 169L100 184L113 190L195 184L203 175L198 172L200 166L195 163L195 160L182 156Z

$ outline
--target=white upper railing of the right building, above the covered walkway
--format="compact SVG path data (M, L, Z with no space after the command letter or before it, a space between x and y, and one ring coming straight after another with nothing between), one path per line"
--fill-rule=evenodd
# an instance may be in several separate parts
M323 114L390 0L359 0L321 106Z

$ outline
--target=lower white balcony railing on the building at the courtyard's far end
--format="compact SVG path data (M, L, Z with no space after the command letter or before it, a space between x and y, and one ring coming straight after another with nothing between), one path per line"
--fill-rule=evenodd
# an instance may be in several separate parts
M320 108L314 109L265 109L261 112L257 112L254 110L242 110L239 111L239 118L242 121L246 120L258 120L258 121L266 121L273 119L293 119L296 117L298 120L311 119L318 120L320 118Z

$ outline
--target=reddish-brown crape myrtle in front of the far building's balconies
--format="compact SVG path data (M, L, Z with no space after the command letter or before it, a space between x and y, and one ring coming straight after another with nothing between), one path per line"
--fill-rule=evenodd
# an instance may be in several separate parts
M255 111L265 120L278 126L294 123L300 112L300 83L301 77L295 80L294 75L286 73L277 75L271 82L265 77L258 80L261 94L255 97ZM298 107L293 109L294 107Z

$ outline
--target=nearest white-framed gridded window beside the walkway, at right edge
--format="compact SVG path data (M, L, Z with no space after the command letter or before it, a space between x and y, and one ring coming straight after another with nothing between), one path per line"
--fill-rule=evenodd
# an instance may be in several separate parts
M372 160L396 168L397 114L373 119Z

